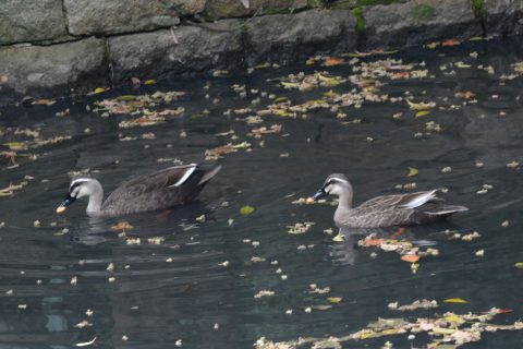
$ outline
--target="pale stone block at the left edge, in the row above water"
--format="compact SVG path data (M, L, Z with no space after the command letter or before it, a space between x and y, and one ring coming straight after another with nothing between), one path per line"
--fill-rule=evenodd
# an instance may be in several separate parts
M48 47L0 48L0 93L46 94L51 87L86 88L106 75L104 40Z

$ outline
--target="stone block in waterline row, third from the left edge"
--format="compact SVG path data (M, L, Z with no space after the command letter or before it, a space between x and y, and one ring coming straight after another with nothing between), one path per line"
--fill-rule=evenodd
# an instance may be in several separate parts
M356 48L356 20L348 10L311 10L275 14L247 23L248 64L262 60L299 60L314 53Z

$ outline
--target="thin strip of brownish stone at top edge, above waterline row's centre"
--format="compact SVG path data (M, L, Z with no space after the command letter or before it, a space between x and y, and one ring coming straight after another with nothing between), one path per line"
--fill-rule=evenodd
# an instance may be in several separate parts
M263 14L275 14L282 11L300 10L307 7L307 0L244 0L248 8L242 4L241 0L207 0L205 14L212 19L244 17Z

